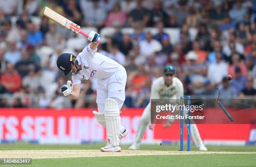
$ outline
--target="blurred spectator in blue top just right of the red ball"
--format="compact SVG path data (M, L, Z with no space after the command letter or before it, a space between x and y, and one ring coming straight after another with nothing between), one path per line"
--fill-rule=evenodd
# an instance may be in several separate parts
M238 94L246 87L246 77L242 75L239 66L235 68L235 77L230 81L230 86L236 88Z

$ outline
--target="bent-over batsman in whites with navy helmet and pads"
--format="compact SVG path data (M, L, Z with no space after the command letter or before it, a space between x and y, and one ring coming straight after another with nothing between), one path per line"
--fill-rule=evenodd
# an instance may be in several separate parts
M91 31L86 46L78 56L62 53L57 59L58 68L64 75L72 75L72 82L61 86L64 96L78 99L82 79L97 78L97 106L98 111L92 111L99 124L106 127L108 143L100 148L102 152L120 152L120 139L128 131L121 126L120 109L125 100L125 84L127 74L125 68L116 61L97 53L96 43L100 34Z

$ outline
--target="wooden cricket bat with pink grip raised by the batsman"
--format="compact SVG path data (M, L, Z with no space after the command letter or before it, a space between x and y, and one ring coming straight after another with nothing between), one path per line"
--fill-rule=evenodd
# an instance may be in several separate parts
M85 33L83 30L80 29L80 26L76 23L73 23L72 21L68 20L67 18L63 17L59 13L56 13L54 10L51 10L48 7L44 7L43 15L45 15L47 18L54 20L56 23L59 23L63 27L69 29L73 33L80 33L88 38L88 34ZM100 38L98 38L97 43L100 43Z

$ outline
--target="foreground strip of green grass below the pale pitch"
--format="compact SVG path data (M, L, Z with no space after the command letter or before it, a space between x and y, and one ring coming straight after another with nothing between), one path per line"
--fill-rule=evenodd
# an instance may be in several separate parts
M33 159L28 167L255 167L255 154L157 155ZM17 165L3 165L17 167Z

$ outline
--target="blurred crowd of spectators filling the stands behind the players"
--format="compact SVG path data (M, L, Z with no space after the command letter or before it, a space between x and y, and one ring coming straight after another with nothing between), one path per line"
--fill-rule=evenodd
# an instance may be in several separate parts
M98 52L127 73L125 107L145 107L166 64L184 94L256 97L254 0L0 0L0 107L97 107L97 82L84 80L72 101L60 53L78 55L87 38L42 17L44 6L100 33ZM226 79L230 74L231 81Z

